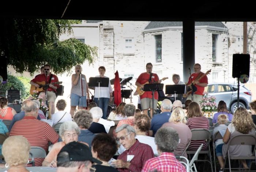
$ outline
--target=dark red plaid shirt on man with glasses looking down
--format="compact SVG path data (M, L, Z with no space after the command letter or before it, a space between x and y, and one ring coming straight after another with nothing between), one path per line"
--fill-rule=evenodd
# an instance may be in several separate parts
M127 155L134 155L130 161L131 165L127 168L117 168L119 172L141 172L144 163L154 157L152 148L144 143L140 143L137 139L135 144L129 150L125 150L118 159L127 161Z

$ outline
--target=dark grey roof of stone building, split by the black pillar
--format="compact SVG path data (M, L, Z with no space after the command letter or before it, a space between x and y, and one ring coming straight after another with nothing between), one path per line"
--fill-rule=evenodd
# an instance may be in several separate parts
M161 28L161 27L175 27L181 26L182 21L151 21L145 29L154 29L154 28ZM214 27L221 27L224 28L225 25L221 21L196 21L195 26L214 26Z

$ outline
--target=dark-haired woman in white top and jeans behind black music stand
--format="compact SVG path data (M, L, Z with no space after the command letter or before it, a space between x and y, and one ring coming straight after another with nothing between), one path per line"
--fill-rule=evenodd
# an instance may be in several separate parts
M106 69L104 66L99 67L99 76L96 77L101 77L101 78L108 78L104 76L106 72ZM99 98L99 99L98 99ZM109 100L112 101L112 87L110 85L109 81L109 86L108 87L95 87L95 92L94 92L94 102L97 103L98 107L102 109L103 112L103 119L107 118L107 110L108 110L108 103Z

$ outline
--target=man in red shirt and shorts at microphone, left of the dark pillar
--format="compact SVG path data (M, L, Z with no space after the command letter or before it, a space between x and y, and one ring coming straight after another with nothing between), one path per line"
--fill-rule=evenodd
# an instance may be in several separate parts
M142 87L146 82L148 83L160 83L159 77L157 74L152 73L153 65L152 63L146 64L147 72L144 72L139 75L135 85L138 87ZM151 76L151 78L150 78ZM157 91L154 92L154 109L157 109L157 100L158 100L158 93ZM142 95L140 95L140 104L142 106L142 110L144 114L148 114L148 109L150 108L150 117L153 117L153 106L152 106L152 91L146 91Z

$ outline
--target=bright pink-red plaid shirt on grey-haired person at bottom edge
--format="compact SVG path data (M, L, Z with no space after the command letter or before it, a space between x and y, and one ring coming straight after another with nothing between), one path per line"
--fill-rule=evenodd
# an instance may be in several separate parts
M160 156L147 160L142 172L186 172L186 168L175 158L171 152L163 152Z

